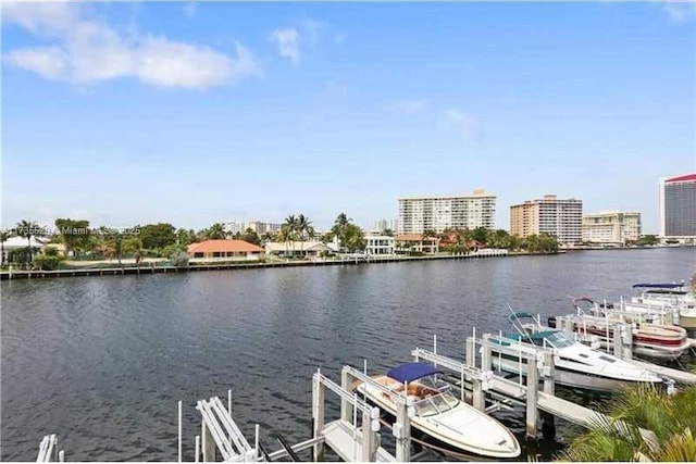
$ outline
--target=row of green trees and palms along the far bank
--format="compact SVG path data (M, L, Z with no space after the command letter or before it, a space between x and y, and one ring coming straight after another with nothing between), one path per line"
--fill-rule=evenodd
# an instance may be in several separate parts
M121 263L123 258L134 258L138 264L142 258L166 258L186 253L191 243L209 239L238 239L249 243L263 246L266 242L284 242L291 246L296 241L318 239L322 242L337 241L341 251L364 251L366 247L365 233L356 225L346 213L336 216L330 231L316 236L310 218L303 214L289 215L285 218L279 230L257 234L253 229L231 233L223 223L214 223L210 227L199 230L176 228L170 223L135 225L127 229L115 229L100 226L92 228L87 220L72 220L60 217L54 222L55 228L42 227L33 221L21 221L14 229L0 231L0 247L2 247L2 263L4 265L4 242L12 236L27 239L27 248L10 253L10 262L17 264L34 263L41 268L55 268L61 260L109 259ZM383 230L384 235L393 236L394 231ZM507 230L492 230L485 227L474 229L446 229L443 233L425 230L424 237L437 237L443 240L440 251L463 253L471 251L476 244L487 248L507 249L512 251L526 250L531 252L556 252L558 240L555 236L540 234L521 238L511 236ZM34 254L32 239L45 239L50 243L61 243L63 252L47 247L42 253ZM408 243L400 244L397 252L409 252Z

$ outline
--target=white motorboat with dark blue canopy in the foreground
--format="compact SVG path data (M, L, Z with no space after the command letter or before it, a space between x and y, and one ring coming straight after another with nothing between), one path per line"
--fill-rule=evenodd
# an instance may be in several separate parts
M357 390L383 411L396 415L399 397L413 411L411 427L474 457L506 459L520 455L520 443L502 424L489 415L457 399L449 385L438 385L432 364L406 363L386 375L372 377L387 387L384 392L370 384L357 384Z

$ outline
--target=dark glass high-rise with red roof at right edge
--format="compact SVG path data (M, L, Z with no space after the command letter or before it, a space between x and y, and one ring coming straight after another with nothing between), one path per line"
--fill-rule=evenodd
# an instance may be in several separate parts
M696 239L696 174L660 179L660 236Z

